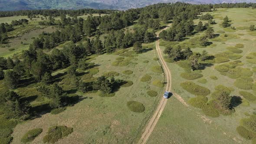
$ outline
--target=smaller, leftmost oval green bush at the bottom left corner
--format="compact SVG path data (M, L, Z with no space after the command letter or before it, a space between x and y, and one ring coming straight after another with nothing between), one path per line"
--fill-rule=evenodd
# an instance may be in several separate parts
M33 141L39 134L41 134L43 132L42 128L35 128L33 130L30 130L28 132L26 132L26 134L23 135L23 137L21 137L21 142L22 143L28 143Z

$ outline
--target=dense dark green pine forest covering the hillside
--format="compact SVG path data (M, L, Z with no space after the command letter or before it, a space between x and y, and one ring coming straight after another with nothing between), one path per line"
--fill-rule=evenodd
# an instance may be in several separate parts
M205 31L206 35L200 38L201 45L208 44L207 39L214 37L214 31L210 24L215 22L212 16L204 15L201 20L209 20L203 25L200 22L194 26L194 19L201 12L209 12L217 8L233 7L255 7L253 3L223 3L216 5L192 5L187 3L159 3L139 9L127 11L114 10L24 10L0 12L0 17L4 16L33 16L43 15L49 18L40 25L56 25L61 30L53 33L42 33L39 38L33 40L28 50L23 50L21 55L0 58L0 79L4 79L5 91L0 95L0 113L7 119L27 120L32 118L35 111L32 111L28 101L21 100L19 95L13 91L26 82L38 82L37 90L51 100L50 107L61 108L69 105L70 99L67 93L57 85L51 75L53 71L67 68L67 74L72 77L77 85L77 90L88 92L100 90L103 94L110 94L120 81L99 77L95 82L82 82L76 69L88 69L90 67L87 57L92 54L111 53L117 49L126 49L134 46L135 52L141 52L141 43L153 42L156 39L155 31L161 28L160 21L164 23L172 22L172 27L160 34L160 38L167 41L181 41L186 36L191 36L196 31ZM107 13L106 16L88 16L86 20L77 18L85 13ZM71 16L66 17L66 15ZM60 21L55 23L54 17L60 16ZM140 28L132 31L125 31L125 27L131 26L138 20ZM171 20L171 21L170 21ZM13 30L13 26L28 23L27 20L13 21L12 24L0 24L0 40L5 43L7 32ZM223 27L230 26L226 17ZM100 35L108 33L105 40L100 39ZM90 37L93 36L94 38ZM86 44L80 43L86 40ZM56 49L62 42L71 41L63 49ZM44 52L45 50L51 53ZM189 49L167 48L164 53L173 58L174 61L180 59L190 59L191 68L198 68L198 59L207 59L207 52L193 54Z

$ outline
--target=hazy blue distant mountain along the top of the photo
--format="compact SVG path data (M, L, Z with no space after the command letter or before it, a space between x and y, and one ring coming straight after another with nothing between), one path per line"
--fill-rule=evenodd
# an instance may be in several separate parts
M256 0L0 0L0 11L35 9L118 9L145 7L155 3L256 3Z

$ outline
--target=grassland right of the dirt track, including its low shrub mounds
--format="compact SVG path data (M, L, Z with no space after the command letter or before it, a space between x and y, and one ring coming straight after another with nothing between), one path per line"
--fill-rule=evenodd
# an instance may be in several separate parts
M256 75L255 72L253 72L253 67L255 67L255 56L253 52L256 52L254 49L256 47L256 37L252 35L254 32L249 32L249 30L246 29L246 26L256 25L256 21L251 20L255 19L256 10L234 8L225 9L225 13L222 11L223 9L218 9L216 12L210 12L217 23L211 26L213 26L216 34L220 34L220 36L214 39L209 39L209 41L212 42L211 45L214 45L214 47L211 45L207 47L197 45L190 46L190 39L196 39L196 37L202 36L204 32L197 33L195 36L189 37L189 39L180 43L161 40L160 45L162 51L166 46L177 46L180 44L181 48L190 47L193 52L200 53L206 50L209 52L209 55L215 56L215 59L204 62L210 63L210 65L206 65L199 71L196 71L199 72L199 74L195 74L194 72L190 75L185 74L186 72L191 72L191 69L187 65L187 60L167 63L172 74L172 91L181 95L185 101L189 101L191 98L198 96L190 94L182 88L180 84L193 82L196 85L203 86L210 90L209 95L206 96L208 99L207 108L210 108L214 103L214 101L212 101L214 95L217 95L219 91L218 88L224 88L223 86L225 86L230 89L230 95L233 97L233 112L224 113L224 111L216 111L215 108L202 111L201 108L194 108L192 105L190 105L190 110L188 110L182 107L182 104L178 103L177 100L171 98L168 100L166 109L151 134L148 143L167 143L171 141L175 143L233 144L236 142L251 142L249 139L253 137L242 137L239 134L240 132L237 132L242 130L237 130L237 127L240 126L241 119L249 118L250 115L253 117L255 114L254 108L256 104L254 98L256 93L253 91L253 87ZM251 15L252 13L254 13L254 15ZM232 23L231 26L235 26L236 30L230 30L231 28L223 29L220 23L223 22L225 16L229 17ZM199 21L200 20L195 20L195 24ZM203 23L204 22L207 21L203 21ZM226 37L224 36L225 34L227 35ZM195 90L195 92L197 92L199 89L196 88ZM197 99L198 102L199 100L200 99ZM206 105L204 102L202 102L203 105ZM199 103L197 105L199 105ZM210 110L214 110L217 113L214 114L214 112ZM242 126L246 127L244 125ZM195 130L195 132L191 132L191 130ZM216 137L221 138L216 139ZM218 142L218 140L222 141Z

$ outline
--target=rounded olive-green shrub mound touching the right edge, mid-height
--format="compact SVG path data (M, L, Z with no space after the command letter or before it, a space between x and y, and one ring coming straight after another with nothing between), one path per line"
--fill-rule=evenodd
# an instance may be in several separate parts
M249 77L242 77L239 79L236 79L234 82L234 85L237 88L241 88L244 90L251 90L253 88L253 79Z

